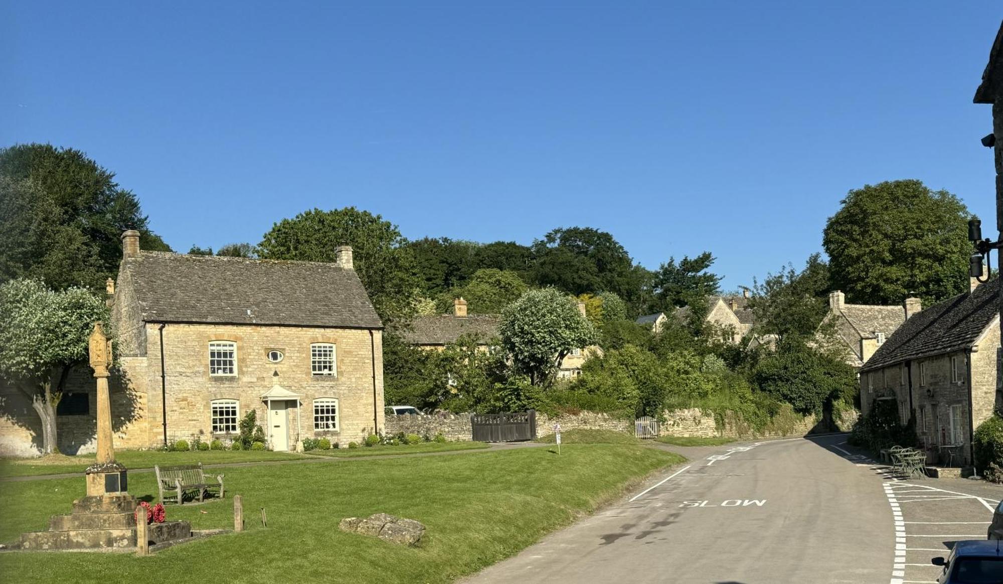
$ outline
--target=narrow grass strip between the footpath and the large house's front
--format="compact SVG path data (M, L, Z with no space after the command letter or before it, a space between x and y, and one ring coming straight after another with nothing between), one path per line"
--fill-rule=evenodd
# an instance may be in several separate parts
M219 465L222 463L258 463L261 461L290 461L302 459L296 453L268 451L189 451L164 453L160 451L117 451L115 460L126 469L152 469L153 465ZM93 455L79 457L45 457L41 459L0 459L0 477L28 477L82 473L94 463Z

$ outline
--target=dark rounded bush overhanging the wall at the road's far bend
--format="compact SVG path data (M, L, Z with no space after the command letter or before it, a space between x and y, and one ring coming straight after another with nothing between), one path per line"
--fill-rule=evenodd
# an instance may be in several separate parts
M752 379L760 389L804 414L820 415L826 401L843 399L857 390L853 367L799 339L782 340L775 353L759 361Z

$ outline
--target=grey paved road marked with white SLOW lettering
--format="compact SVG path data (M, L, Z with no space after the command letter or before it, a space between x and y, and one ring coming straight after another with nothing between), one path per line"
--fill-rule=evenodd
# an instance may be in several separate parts
M895 583L890 481L844 441L723 447L467 582Z

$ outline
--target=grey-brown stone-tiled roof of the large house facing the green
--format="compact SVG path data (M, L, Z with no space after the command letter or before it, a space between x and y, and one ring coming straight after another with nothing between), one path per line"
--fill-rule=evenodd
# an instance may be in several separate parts
M142 251L122 270L147 322L383 327L355 271L335 264Z

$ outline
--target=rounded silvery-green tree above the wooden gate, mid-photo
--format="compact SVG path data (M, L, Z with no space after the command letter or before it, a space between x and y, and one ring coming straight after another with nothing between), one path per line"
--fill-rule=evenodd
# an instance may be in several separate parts
M498 333L514 370L537 386L550 385L572 349L597 339L575 302L553 288L530 290L510 304L501 314Z

